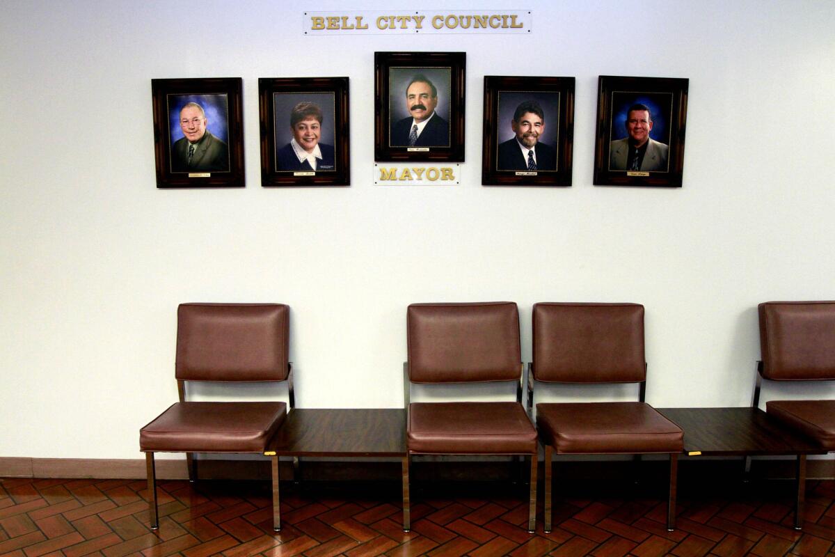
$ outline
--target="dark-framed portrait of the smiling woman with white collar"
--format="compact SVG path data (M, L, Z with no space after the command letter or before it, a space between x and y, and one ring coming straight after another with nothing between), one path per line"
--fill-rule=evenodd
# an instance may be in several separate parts
M260 78L261 185L351 185L348 78Z

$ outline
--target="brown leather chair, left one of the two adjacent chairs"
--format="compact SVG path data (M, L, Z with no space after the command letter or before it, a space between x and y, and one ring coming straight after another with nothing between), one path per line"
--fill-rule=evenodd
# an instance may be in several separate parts
M510 301L412 304L403 387L407 455L402 459L403 531L409 531L409 459L416 454L530 458L528 530L536 526L536 430L521 404L519 310ZM410 403L411 383L517 382L516 402Z

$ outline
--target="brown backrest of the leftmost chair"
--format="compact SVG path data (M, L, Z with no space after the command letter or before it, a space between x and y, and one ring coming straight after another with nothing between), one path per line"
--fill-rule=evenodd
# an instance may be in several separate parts
M289 372L290 307L181 304L176 377L180 381L284 381Z

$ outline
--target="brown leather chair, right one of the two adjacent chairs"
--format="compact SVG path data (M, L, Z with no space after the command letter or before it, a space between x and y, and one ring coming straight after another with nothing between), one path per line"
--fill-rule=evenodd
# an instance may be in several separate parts
M675 527L676 471L684 433L644 402L644 306L534 305L534 361L529 364L528 411L534 384L640 384L637 403L539 403L536 426L545 448L545 532L551 531L551 452L670 455L667 529Z

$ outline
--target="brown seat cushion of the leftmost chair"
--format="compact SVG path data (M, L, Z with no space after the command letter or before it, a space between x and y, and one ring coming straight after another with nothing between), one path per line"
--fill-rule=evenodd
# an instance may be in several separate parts
M139 430L139 449L172 453L262 453L285 403L176 403Z

